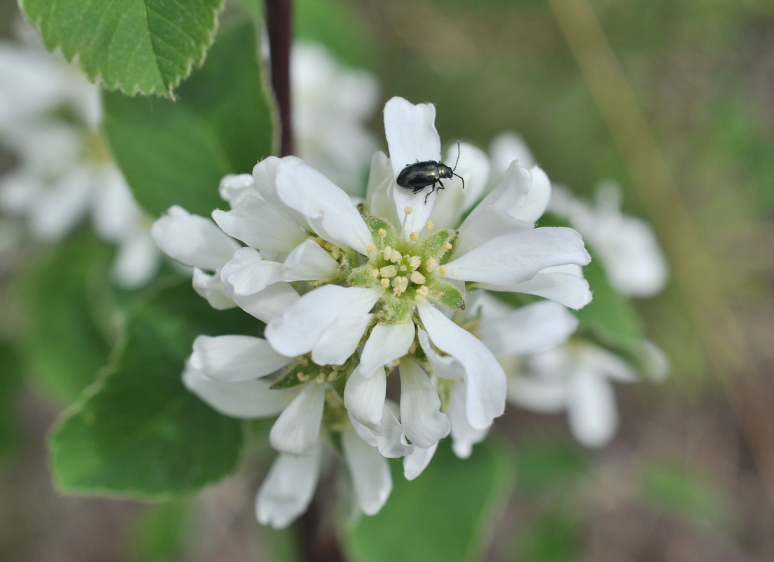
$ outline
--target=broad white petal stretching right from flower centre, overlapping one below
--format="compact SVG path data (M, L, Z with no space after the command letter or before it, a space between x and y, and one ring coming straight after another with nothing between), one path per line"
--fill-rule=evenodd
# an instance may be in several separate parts
M586 265L591 256L571 228L519 230L471 250L446 264L447 277L458 281L514 284L553 265Z

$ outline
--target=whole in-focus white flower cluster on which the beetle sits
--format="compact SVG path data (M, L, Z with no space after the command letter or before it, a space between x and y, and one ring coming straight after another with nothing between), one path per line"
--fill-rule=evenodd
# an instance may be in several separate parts
M214 211L214 223L173 207L153 227L166 254L194 267L211 305L265 322L262 338L200 336L183 375L224 414L277 416L262 523L286 526L306 509L324 436L365 513L389 496L385 458L402 457L411 479L448 434L469 455L505 408L495 354L557 346L577 326L565 307L591 300L580 235L535 227L550 200L541 169L512 162L490 182L487 156L463 144L455 172L465 189L457 178L430 193L397 185L406 165L441 161L434 121L430 104L389 100L389 158L372 158L362 203L299 158L272 157L224 178L230 209ZM489 291L547 300L494 318Z

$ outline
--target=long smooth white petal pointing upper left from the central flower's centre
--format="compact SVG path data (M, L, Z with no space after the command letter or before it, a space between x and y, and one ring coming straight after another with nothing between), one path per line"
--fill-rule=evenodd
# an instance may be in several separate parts
M346 192L297 158L285 159L277 172L279 198L307 217L325 240L368 254L371 232Z

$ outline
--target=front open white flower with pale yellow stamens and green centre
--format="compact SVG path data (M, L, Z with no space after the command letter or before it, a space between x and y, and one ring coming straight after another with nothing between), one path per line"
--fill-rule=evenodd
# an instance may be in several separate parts
M426 346L462 366L473 427L488 427L502 414L505 373L479 339L442 312L464 306L465 282L557 298L576 308L590 299L582 278L553 271L588 262L580 236L567 228L533 228L550 192L539 169L512 165L459 230L433 227L430 213L438 192L420 195L397 186L405 164L396 162L440 159L434 116L433 106L401 98L385 107L392 165L384 155L375 156L365 207L380 216L361 214L333 182L292 157L260 162L253 172L257 193L242 196L231 211L213 213L225 233L247 245L221 268L235 301L282 282L329 283L272 318L265 337L279 353L310 353L320 365L344 363L365 337L344 399L352 415L372 429L382 419L385 367L391 370L414 353L422 341L415 339L417 323L427 335ZM461 158L459 172L468 176L472 195L460 199L455 217L485 187L485 179L478 180L482 174L470 172L476 163L470 161ZM478 164L481 169L481 158ZM444 196L459 199L457 185L450 183L453 189ZM429 446L440 433L415 437Z

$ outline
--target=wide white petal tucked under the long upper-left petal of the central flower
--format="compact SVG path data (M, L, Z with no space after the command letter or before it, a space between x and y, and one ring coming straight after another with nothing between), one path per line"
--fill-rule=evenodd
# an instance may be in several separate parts
M245 197L230 211L215 209L212 218L224 233L257 250L287 254L307 239L290 216L255 197Z

